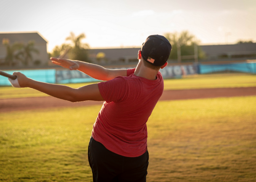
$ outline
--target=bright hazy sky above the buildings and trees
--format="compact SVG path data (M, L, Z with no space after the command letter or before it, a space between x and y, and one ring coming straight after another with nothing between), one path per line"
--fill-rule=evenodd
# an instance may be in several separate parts
M90 48L140 47L187 30L201 45L256 42L255 0L0 0L0 32L37 31L48 52L84 33Z

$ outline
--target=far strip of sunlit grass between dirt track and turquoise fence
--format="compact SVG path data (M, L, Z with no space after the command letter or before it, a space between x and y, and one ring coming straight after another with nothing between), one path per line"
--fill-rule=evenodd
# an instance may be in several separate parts
M234 74L206 74L192 75L182 79L166 79L165 90L170 89L199 89L199 88L234 88L256 86L256 75ZM91 83L66 84L78 88ZM0 87L0 99L21 97L47 96L30 88L13 88L11 86Z

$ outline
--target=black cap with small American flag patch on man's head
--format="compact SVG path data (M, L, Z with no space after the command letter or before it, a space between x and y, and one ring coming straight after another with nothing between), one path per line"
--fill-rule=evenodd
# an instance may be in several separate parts
M141 56L154 66L163 66L171 53L170 42L162 35L150 35L141 47Z

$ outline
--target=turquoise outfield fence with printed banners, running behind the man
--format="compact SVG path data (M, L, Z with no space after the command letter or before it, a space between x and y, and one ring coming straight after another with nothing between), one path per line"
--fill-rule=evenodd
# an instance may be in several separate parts
M132 67L121 67L119 69L128 69ZM111 68L110 68L111 69ZM112 69L117 69L113 67ZM191 64L166 66L160 69L163 78L181 78L182 75L207 74L222 71L237 71L256 74L256 63L233 63L233 64ZM80 71L68 69L31 69L31 70L8 70L9 74L21 72L33 80L46 83L84 83L97 82L96 80ZM10 86L6 77L0 75L0 86Z

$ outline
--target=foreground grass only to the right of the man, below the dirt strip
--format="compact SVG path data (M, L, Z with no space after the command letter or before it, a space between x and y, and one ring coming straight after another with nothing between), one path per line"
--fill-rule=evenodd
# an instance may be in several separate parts
M256 181L255 103L255 96L159 103L148 122L149 181Z

